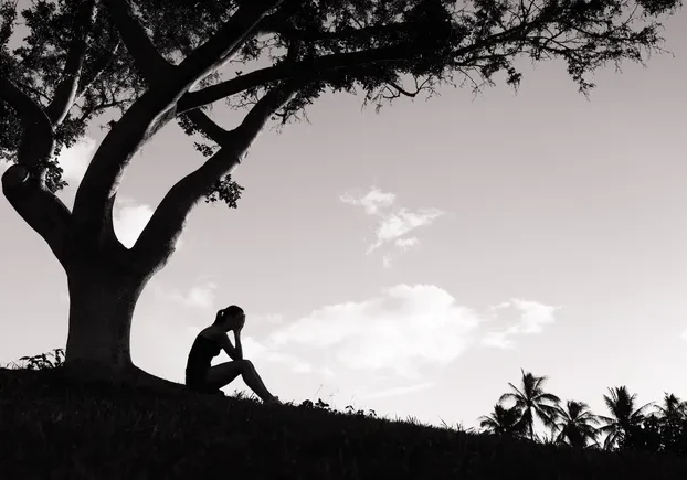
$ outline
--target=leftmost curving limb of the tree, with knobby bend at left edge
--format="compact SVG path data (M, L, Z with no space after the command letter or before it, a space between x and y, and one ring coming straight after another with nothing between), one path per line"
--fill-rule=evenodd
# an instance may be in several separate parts
M17 213L47 242L64 266L71 214L64 203L45 188L44 177L54 148L52 125L40 105L2 76L0 100L14 108L23 130L17 164L2 175L2 192Z

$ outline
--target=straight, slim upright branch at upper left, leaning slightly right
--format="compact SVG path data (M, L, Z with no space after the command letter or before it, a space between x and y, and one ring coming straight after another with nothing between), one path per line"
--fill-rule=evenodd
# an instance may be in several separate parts
M78 88L78 78L86 56L88 35L95 18L95 0L84 2L76 13L74 39L64 63L62 79L55 89L53 100L46 108L47 118L53 125L60 125L72 108Z

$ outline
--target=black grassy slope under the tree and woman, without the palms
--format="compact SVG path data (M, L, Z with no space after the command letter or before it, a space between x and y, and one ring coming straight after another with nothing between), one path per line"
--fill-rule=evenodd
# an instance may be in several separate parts
M57 372L57 373L56 373ZM0 369L7 479L685 479L687 459L518 442L289 405Z

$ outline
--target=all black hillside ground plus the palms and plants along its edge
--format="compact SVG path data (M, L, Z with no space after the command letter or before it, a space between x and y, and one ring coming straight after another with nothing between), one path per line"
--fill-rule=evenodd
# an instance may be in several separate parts
M62 358L56 349L0 369L2 435L12 439L0 450L7 478L202 478L228 459L244 478L687 476L687 404L674 395L644 416L625 387L610 390L612 416L596 417L581 402L561 407L543 392L546 377L522 372L522 386L509 384L514 396L501 397L516 405L496 404L475 431L380 418L352 405L337 412L321 398L264 405L242 392L218 397L81 383L63 375ZM532 435L528 405L547 417L549 438ZM600 418L610 428L594 428ZM602 431L615 433L617 445L592 441Z

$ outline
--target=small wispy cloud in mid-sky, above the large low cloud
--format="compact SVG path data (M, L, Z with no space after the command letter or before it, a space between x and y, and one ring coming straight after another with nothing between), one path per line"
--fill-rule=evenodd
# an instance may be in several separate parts
M431 225L445 213L438 209L419 209L411 212L405 207L397 207L394 206L397 195L382 192L377 186L372 186L367 194L361 196L346 193L340 196L340 200L348 205L362 206L368 216L376 218L376 241L368 246L366 255L371 254L384 244L392 244L397 252L408 252L411 248L419 247L420 239L416 236L404 237L404 235L421 226ZM383 255L382 264L384 267L391 267L393 257L392 252L387 252Z

